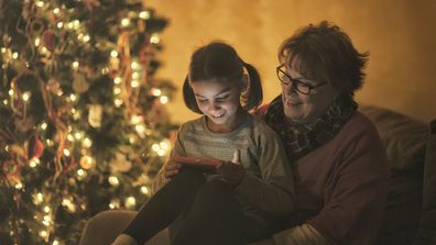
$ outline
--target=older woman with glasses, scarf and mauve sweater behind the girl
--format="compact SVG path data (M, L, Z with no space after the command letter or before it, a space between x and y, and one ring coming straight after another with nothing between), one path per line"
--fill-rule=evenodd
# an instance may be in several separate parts
M273 238L258 244L374 242L389 165L375 127L357 112L353 101L367 57L328 22L310 24L281 45L276 73L282 94L258 114L285 145L299 209L283 218ZM117 211L97 215L88 223L81 244L110 243L132 218L133 213ZM162 237L155 242L168 243Z

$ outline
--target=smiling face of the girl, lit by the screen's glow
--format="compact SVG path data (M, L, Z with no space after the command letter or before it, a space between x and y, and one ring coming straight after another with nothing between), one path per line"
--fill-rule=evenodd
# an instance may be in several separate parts
M190 82L199 110L207 116L207 125L216 133L228 133L243 123L240 89L231 82L201 80Z

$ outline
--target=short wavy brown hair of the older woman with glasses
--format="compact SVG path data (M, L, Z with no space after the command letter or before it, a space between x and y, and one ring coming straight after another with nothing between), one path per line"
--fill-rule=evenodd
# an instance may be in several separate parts
M359 53L350 37L327 21L298 30L279 48L281 64L296 65L295 69L306 78L327 81L351 97L363 83L368 56L368 52Z

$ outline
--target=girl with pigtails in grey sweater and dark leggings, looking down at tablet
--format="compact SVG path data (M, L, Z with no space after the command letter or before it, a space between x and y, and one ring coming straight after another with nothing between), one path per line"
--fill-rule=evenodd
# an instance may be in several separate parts
M295 210L295 193L279 136L248 113L262 100L259 74L231 46L210 43L193 54L183 94L203 116L181 126L156 177L159 191L113 244L143 244L168 225L175 245L241 245L271 236ZM205 174L176 156L224 162Z

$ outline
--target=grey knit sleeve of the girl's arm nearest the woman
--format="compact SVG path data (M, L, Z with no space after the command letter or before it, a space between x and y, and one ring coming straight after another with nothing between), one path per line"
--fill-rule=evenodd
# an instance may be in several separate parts
M236 188L250 205L273 216L295 211L295 188L291 166L279 136L269 127L255 136L262 178L244 175Z

